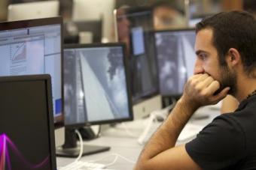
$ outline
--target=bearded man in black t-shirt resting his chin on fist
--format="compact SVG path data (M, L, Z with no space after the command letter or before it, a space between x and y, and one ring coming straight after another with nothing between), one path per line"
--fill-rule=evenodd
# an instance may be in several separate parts
M169 117L145 145L136 164L143 169L256 169L256 22L246 12L218 13L196 26L194 76ZM227 94L235 112L219 115L197 138L175 146L200 106Z

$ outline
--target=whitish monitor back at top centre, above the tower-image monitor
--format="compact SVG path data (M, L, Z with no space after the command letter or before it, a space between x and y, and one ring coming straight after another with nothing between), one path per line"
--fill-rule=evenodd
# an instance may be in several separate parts
M73 0L72 21L102 20L102 34L111 42L115 0Z

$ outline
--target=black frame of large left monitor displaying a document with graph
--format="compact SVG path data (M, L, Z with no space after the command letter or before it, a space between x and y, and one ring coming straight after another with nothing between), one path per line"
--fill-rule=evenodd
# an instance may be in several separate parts
M44 25L56 25L59 24L61 27L61 34L62 34L62 25L63 25L63 21L62 21L62 17L61 16L57 16L57 17L50 17L50 18L42 18L42 19L27 19L27 20L19 20L19 21L9 21L9 22L0 22L0 31L11 31L11 30L15 30L15 29L20 29L20 28L29 28L29 27L37 27L37 26L44 26ZM62 48L62 42L63 42L63 38L61 37L61 44L60 44L60 51L61 51L61 70L62 70L62 56L63 56L63 48ZM61 84L63 85L63 76L62 76L62 71L61 71ZM61 96L62 96L62 103L63 103L63 88L61 87ZM60 128L64 126L64 107L62 104L62 115L60 116L60 120L54 122L54 127Z

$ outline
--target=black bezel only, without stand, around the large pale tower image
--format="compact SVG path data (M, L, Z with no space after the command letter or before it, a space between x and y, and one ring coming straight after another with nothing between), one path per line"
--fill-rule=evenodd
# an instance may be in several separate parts
M104 120L104 121L86 121L84 123L79 124L65 124L65 127L68 128L77 128L77 127L84 127L90 126L94 124L112 124L112 123L119 123L122 121L133 121L133 103L130 91L130 75L128 70L128 60L125 54L126 46L124 43L87 43L87 44L66 44L64 45L65 49L83 49L83 48L99 48L99 47L121 47L123 49L123 66L124 72L126 76L126 91L128 97L128 109L129 109L129 117L128 118L120 118L120 119L111 119L111 120ZM63 50L63 51L64 51ZM63 57L65 57L63 55ZM63 59L64 61L64 59Z

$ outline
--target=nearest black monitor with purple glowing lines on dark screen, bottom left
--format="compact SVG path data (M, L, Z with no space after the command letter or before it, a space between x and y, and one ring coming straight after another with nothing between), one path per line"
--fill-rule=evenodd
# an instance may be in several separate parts
M0 77L0 169L56 170L49 75Z

